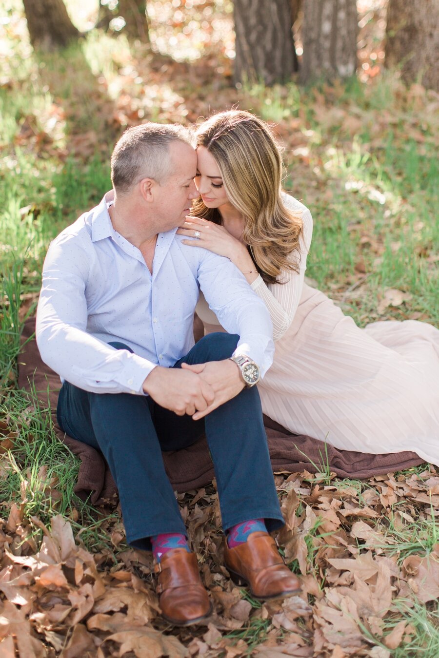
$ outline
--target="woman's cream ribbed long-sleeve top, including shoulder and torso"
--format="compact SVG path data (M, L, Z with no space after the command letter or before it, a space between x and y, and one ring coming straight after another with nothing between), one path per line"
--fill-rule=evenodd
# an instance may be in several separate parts
M296 251L290 254L291 261L297 263L299 270L298 272L282 270L280 280L285 281L285 283L265 284L263 278L258 276L251 284L251 288L263 299L267 309L269 309L273 324L274 341L280 340L284 336L294 319L294 315L296 315L303 291L307 254L313 236L313 218L307 207L289 194L284 193L282 197L286 207L297 213L302 220L303 230L299 240L299 253ZM217 316L209 309L203 293L200 293L195 310L203 321L206 333L222 330Z

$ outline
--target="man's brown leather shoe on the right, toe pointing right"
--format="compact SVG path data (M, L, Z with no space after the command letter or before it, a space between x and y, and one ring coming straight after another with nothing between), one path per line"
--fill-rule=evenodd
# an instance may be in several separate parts
M245 544L229 548L224 563L237 585L248 585L255 599L280 599L300 591L299 578L286 566L268 532L252 532Z

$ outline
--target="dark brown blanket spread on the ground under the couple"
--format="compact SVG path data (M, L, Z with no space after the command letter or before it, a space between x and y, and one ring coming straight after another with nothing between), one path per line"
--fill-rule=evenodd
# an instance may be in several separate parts
M47 405L47 388L49 388L49 402L55 431L60 440L81 460L75 493L84 499L91 493L91 502L94 505L114 499L115 482L101 453L67 436L57 425L59 376L41 361L33 337L34 330L35 318L28 318L22 334L18 385L20 388L30 390L30 382L33 382L42 405ZM413 452L369 455L338 450L330 445L325 447L323 442L310 436L292 434L266 416L264 422L274 472L299 472L306 469L315 473L320 469L323 470L323 466L320 465L326 462L326 451L330 470L342 478L369 478L376 474L389 473L423 463L423 459ZM214 476L205 438L189 448L163 453L163 459L170 482L178 492L205 486Z

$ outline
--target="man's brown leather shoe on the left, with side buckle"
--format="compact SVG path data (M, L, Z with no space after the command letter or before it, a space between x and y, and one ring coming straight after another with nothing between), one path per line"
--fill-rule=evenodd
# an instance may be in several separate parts
M163 617L175 626L190 626L209 617L212 605L199 577L195 553L174 548L154 565L155 588Z

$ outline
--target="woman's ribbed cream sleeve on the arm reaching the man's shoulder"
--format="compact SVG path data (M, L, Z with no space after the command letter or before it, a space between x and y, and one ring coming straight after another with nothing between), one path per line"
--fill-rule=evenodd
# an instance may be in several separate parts
M305 278L307 254L313 233L313 218L308 209L301 213L303 232L299 242L299 254L292 253L290 259L296 261L299 271L282 270L280 280L285 283L265 284L261 276L253 281L251 288L265 302L273 324L274 341L285 334L296 315Z

